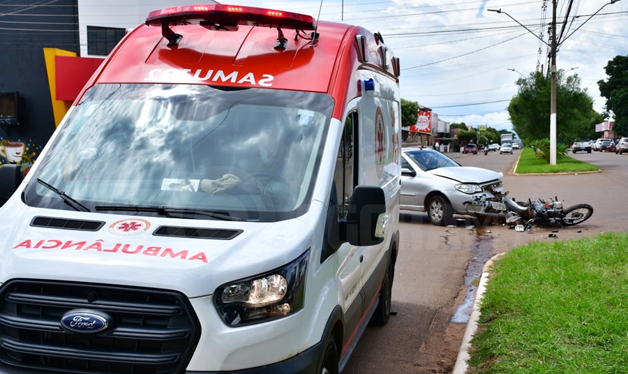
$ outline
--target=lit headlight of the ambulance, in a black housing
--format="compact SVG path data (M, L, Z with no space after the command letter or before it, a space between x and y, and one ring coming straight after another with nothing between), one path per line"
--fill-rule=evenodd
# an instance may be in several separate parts
M214 304L230 326L275 320L303 308L309 250L281 269L218 287Z

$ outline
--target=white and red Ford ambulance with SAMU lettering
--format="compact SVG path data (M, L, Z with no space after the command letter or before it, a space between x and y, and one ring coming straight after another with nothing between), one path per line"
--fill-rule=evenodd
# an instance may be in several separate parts
M0 373L343 371L390 316L399 73L362 27L149 13L0 167Z

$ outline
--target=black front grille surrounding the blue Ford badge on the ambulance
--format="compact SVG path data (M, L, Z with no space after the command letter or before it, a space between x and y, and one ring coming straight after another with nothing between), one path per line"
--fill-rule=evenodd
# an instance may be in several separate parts
M62 327L63 315L85 309L109 317L109 327ZM0 372L184 373L199 337L192 306L178 292L45 280L0 289Z

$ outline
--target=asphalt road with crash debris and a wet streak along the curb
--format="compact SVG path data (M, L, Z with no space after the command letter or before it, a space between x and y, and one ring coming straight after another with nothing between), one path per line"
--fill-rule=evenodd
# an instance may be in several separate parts
M628 154L569 154L598 165L598 173L522 176L511 174L519 152L448 156L461 165L503 172L504 188L516 200L558 197L565 207L587 203L594 209L593 216L558 232L534 227L528 233L499 224L476 227L463 216L457 217L456 227L435 227L425 213L402 211L401 248L392 295L395 314L387 326L366 329L343 373L450 373L470 314L475 284L489 258L529 241L578 239L628 230L622 216L626 206L622 199L628 189Z

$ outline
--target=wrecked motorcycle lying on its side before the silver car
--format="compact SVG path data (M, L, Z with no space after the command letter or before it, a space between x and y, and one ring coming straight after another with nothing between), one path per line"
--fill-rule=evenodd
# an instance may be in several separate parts
M563 209L562 201L559 201L558 197L554 197L549 202L541 199L517 202L504 196L502 202L506 211L506 223L528 232L532 230L534 224L541 226L577 225L588 220L593 214L593 207L589 204L576 204Z

